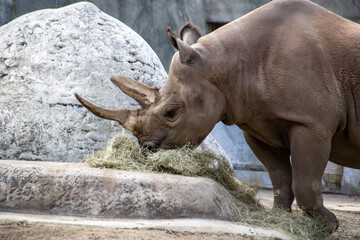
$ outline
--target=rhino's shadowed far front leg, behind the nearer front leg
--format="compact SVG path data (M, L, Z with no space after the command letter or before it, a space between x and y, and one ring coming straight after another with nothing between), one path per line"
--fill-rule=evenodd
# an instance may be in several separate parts
M273 208L291 211L294 194L291 188L292 173L289 151L273 148L246 132L244 132L244 137L269 173L274 192Z

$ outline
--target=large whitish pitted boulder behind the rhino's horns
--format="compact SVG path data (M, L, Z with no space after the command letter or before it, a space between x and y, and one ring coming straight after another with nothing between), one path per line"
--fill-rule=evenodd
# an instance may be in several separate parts
M89 113L74 93L103 107L138 107L109 81L113 75L156 87L167 78L138 34L91 3L32 12L2 26L0 159L81 161L103 148L122 128Z

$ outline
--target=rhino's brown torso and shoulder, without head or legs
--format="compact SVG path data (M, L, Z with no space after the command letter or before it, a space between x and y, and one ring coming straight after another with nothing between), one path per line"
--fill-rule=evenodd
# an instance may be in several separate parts
M199 42L226 72L229 124L284 148L289 125L309 126L333 137L334 162L360 168L359 40L358 24L310 1L279 0Z

